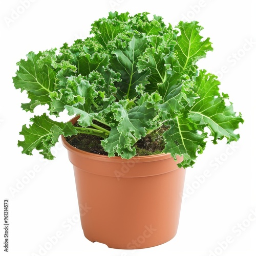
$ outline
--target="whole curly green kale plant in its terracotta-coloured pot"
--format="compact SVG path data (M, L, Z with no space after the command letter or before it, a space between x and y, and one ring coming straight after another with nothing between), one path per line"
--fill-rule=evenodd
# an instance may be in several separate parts
M215 144L239 139L241 114L219 92L217 77L197 67L212 51L202 29L110 12L92 24L90 37L17 63L14 86L30 99L22 109L49 106L49 114L23 126L18 146L53 159L51 147L62 136L79 204L90 206L81 214L90 241L135 249L172 239L185 168L207 137ZM63 111L67 122L52 120Z

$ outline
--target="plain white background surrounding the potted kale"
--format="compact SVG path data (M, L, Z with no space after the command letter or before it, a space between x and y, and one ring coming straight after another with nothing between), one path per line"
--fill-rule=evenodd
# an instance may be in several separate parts
M3 200L9 199L9 255L42 255L40 246L45 246L48 237L60 231L62 238L45 255L255 256L256 220L248 221L250 212L256 211L253 0L28 1L25 9L19 0L5 0L0 4L0 205L3 207ZM214 47L214 52L200 60L199 66L219 75L221 91L229 94L234 110L242 112L245 119L240 125L239 142L232 143L231 148L224 140L218 145L209 143L194 168L187 169L176 237L163 245L141 250L110 249L84 238L77 218L73 167L60 143L53 161L42 160L37 152L33 156L23 155L22 148L16 145L18 139L22 140L18 134L22 125L32 117L20 109L26 94L20 94L12 84L16 62L29 51L60 47L64 42L72 44L76 38L87 37L94 20L114 10L129 11L132 15L147 11L164 17L166 24L174 26L179 20L198 20L205 28L203 35L211 38ZM20 14L15 16L14 11ZM36 114L42 109L37 108ZM63 114L60 119L67 121L69 117ZM210 176L203 178L205 172ZM28 173L34 173L32 178L28 178ZM0 212L2 223L3 210ZM72 226L67 225L70 219ZM0 230L0 241L3 241L4 230ZM222 249L220 244L227 237L231 237L231 242Z

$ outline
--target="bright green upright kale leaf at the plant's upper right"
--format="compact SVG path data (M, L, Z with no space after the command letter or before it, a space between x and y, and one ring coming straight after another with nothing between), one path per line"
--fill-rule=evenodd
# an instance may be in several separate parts
M180 35L177 37L177 57L183 70L191 69L196 61L206 56L207 51L212 51L209 38L202 40L199 34L203 27L198 22L180 22L177 28L180 29Z

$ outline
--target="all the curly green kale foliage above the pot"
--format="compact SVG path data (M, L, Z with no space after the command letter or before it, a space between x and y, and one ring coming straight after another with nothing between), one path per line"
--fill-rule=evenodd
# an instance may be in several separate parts
M180 22L174 29L162 17L148 13L110 12L92 24L90 37L78 39L20 60L14 86L27 91L33 112L49 105L51 115L67 110L79 115L79 127L51 120L45 113L23 126L23 153L34 148L53 159L51 147L59 135L97 135L109 157L130 159L134 144L162 125L164 153L183 156L180 166L195 163L206 138L217 143L237 141L241 114L234 113L228 95L219 92L215 75L199 70L197 61L212 51L198 22ZM205 132L208 127L210 134Z

